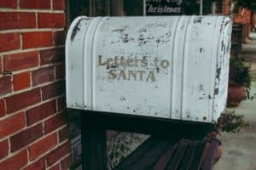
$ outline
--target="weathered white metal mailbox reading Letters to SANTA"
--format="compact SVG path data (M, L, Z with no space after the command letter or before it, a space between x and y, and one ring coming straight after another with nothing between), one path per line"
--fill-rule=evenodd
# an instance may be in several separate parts
M81 16L67 33L67 107L216 122L231 29L224 15Z

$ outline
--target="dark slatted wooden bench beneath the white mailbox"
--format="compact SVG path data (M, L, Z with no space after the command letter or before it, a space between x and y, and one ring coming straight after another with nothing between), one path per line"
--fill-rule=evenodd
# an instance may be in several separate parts
M218 140L206 150L206 141L150 137L114 170L121 169L212 169Z

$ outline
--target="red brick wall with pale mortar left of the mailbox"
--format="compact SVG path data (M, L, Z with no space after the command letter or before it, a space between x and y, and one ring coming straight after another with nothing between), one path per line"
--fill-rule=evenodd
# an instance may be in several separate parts
M65 0L0 0L0 169L68 169Z

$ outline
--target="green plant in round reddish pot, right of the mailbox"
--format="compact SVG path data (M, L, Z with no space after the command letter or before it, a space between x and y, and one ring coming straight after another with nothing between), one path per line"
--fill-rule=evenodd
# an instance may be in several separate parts
M253 99L250 94L252 76L250 65L238 58L230 59L228 107L236 107L243 99Z

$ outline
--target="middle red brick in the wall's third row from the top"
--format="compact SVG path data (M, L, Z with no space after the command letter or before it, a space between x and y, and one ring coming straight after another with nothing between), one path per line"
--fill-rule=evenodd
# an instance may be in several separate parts
M52 45L52 31L33 31L22 33L23 47L26 48L42 48Z

